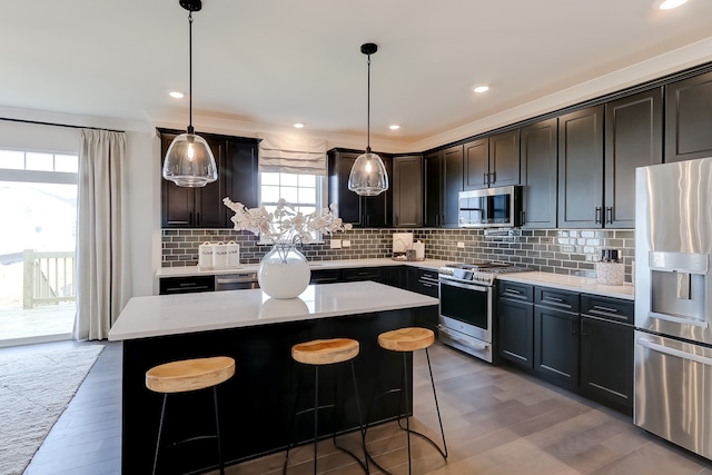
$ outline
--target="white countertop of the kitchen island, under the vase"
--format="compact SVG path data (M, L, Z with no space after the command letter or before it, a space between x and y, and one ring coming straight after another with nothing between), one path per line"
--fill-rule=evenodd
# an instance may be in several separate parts
M109 340L254 327L286 321L427 307L438 300L374 281L310 285L278 300L259 289L134 297L109 331Z

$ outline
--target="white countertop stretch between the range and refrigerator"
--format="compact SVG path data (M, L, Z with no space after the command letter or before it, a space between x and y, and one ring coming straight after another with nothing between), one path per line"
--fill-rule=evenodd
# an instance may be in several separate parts
M635 287L631 284L610 286L599 284L596 283L596 279L590 279L586 277L563 276L560 274L532 271L500 274L497 275L497 279L553 287L562 290L573 290L582 294L623 298L626 300L633 300L635 298Z

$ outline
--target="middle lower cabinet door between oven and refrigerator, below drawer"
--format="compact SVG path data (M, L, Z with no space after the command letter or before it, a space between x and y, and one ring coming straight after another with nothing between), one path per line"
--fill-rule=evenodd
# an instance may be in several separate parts
M578 314L534 306L534 370L564 387L578 386Z

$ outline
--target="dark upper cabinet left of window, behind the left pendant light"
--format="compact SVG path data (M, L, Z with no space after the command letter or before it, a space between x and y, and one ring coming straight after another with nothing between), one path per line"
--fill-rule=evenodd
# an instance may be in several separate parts
M182 132L159 130L162 167L166 151ZM218 179L201 188L178 187L161 179L162 228L231 228L231 214L222 205L229 196L248 207L257 206L257 144L255 139L199 133L212 151Z

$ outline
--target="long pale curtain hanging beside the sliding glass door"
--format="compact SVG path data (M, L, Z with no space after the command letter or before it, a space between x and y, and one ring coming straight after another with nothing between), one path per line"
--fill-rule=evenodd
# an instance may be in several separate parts
M130 297L126 133L81 129L76 339L105 339Z

